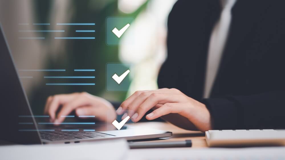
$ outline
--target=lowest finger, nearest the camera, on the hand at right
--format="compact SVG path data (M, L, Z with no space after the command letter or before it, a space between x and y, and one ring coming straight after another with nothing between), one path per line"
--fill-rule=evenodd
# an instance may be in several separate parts
M158 109L146 115L146 119L153 120L169 113L182 113L186 109L186 103L165 103Z

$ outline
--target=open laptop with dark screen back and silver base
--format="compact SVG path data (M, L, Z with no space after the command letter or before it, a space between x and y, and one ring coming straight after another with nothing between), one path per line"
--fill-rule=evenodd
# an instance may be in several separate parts
M172 132L125 124L117 130L112 124L79 122L55 127L44 115L33 115L19 80L9 45L0 24L0 139L16 144L82 143L124 138L153 139L172 136ZM75 125L74 125L75 124ZM80 125L78 125L80 124ZM93 124L90 125L84 124Z

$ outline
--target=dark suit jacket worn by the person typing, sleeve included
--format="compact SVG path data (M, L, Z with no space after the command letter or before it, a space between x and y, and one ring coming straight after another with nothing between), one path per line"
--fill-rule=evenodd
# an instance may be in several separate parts
M237 0L211 97L202 99L218 0L179 0L168 19L159 88L203 102L215 129L285 128L285 1Z

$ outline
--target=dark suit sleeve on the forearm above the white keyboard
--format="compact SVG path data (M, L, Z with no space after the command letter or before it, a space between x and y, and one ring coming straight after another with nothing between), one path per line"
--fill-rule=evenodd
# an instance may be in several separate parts
M285 91L203 99L215 129L285 128Z

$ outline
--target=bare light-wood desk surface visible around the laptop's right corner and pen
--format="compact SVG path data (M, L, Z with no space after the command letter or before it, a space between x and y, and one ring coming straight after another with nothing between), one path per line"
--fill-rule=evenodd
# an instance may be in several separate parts
M192 148L208 147L205 140L205 133L202 133L200 131L184 130L168 122L138 122L135 123L135 126L153 128L158 130L166 130L172 132L173 133L172 137L170 137L165 141L192 140ZM161 141L156 140L152 142L161 142Z

